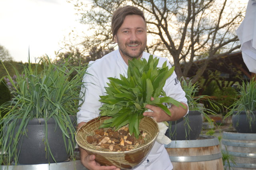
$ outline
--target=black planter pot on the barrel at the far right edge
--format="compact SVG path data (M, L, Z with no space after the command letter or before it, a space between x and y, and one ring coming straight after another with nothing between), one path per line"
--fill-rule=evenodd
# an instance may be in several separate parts
M237 111L234 111L232 115L232 124L238 133L256 133L256 111L253 111L253 115L251 115L251 117L252 121L250 128L250 123L246 116L246 112L240 111L240 113L237 114Z

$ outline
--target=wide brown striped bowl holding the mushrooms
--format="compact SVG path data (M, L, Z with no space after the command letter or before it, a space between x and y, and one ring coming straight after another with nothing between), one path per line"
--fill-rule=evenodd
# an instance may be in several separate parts
M132 169L139 166L146 158L150 150L152 149L156 138L158 136L158 125L151 117L144 117L140 121L139 130L146 132L150 136L150 142L146 143L142 147L134 150L123 152L108 152L92 149L89 145L84 143L84 139L81 136L85 136L88 131L94 131L102 124L102 122L110 117L96 117L91 121L80 127L76 133L77 144L86 150L88 154L96 155L96 162L101 165L114 165L120 169ZM152 139L151 139L152 138ZM83 142L81 142L83 141ZM81 145L83 143L83 146Z

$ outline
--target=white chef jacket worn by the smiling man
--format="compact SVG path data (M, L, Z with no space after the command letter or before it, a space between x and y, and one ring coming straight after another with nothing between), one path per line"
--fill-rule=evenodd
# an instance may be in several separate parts
M148 60L149 56L150 54L146 52L142 54L142 58L146 60ZM158 58L158 67L161 67L167 59L162 57ZM99 108L102 106L102 103L98 100L100 100L100 96L106 95L104 87L108 86L108 77L120 78L120 74L127 77L128 65L122 59L119 50L112 51L96 61L90 61L89 64L87 74L85 74L83 78L85 87L81 89L81 94L84 93L85 90L85 95L84 103L78 108L78 123L88 122L99 116ZM168 61L167 65L171 68ZM175 72L166 80L163 90L166 92L167 96L187 104L185 92L182 90ZM172 170L172 168L172 163L170 162L164 145L156 142L144 162L135 169Z

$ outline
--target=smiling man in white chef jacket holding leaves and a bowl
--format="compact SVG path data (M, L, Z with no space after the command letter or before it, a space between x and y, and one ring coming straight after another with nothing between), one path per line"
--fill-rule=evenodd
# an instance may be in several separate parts
M128 60L133 58L145 58L148 60L150 55L144 52L147 42L147 33L146 21L141 10L133 6L118 8L113 14L111 26L114 41L118 43L118 50L90 63L91 66L87 70L89 74L86 74L83 80L86 82L86 90L82 88L82 92L85 90L85 98L84 103L77 113L78 128L90 119L98 117L100 112L98 109L101 106L98 100L100 96L105 95L106 91L104 87L107 86L107 82L109 82L108 77L120 78L120 74L127 76ZM167 60L161 57L158 58L160 66ZM188 112L187 100L176 78L176 74L173 73L172 76L166 80L163 89L167 96L182 102L182 104L186 106L186 109L172 105L170 107L172 115L169 116L159 107L147 105L146 108L150 109L152 112L144 112L144 116L151 116L157 122L162 122L175 121L186 115ZM82 164L90 170L118 169L115 166L100 166L100 164L95 161L95 155L88 155L87 152L81 148L80 158ZM145 161L136 168L136 170L145 169L172 169L172 164L164 145L156 142Z

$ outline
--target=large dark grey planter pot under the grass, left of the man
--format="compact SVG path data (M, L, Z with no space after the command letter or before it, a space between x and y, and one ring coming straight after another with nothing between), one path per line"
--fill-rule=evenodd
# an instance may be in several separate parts
M76 125L76 117L70 116L73 125ZM26 129L26 135L22 135L18 142L18 164L48 164L54 163L50 152L45 151L45 133L44 133L44 119L32 119L29 121ZM50 146L52 155L56 162L64 162L69 158L66 151L62 131L56 125L53 118L47 121L48 125L48 145ZM66 143L68 139L66 137ZM75 147L75 144L74 144Z

